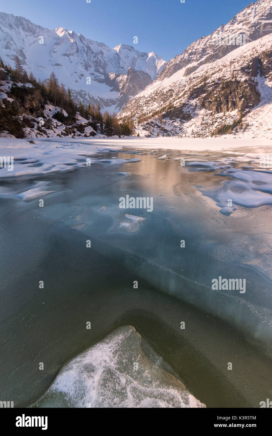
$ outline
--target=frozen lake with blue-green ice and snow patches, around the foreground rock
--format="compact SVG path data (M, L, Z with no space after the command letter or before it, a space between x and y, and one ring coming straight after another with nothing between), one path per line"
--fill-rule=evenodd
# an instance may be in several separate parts
M69 359L132 325L207 407L259 407L272 395L269 142L97 142L3 141L1 395L31 405ZM127 196L152 210L120 208ZM212 289L220 278L245 286Z

